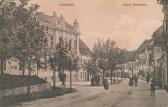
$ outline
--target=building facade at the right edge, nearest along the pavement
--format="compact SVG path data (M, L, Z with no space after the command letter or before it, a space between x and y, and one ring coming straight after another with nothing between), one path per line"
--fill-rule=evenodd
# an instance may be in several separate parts
M164 45L163 26L153 33L153 53L154 53L154 78L159 81L162 88L168 86L167 53Z

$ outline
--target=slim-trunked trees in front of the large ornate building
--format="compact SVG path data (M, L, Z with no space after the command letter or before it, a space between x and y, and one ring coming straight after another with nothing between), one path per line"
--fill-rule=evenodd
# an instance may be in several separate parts
M68 42L65 42L63 38L59 39L58 44L55 46L54 53L50 57L50 66L53 68L53 87L56 87L56 68L58 69L59 80L64 85L65 73L64 70L67 69L70 71L70 88L72 88L72 74L71 71L75 69L77 65L77 59L71 51L71 47Z

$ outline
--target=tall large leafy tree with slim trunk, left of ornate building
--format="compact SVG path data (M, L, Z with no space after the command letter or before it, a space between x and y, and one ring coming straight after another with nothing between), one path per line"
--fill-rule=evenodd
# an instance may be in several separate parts
M6 28L6 32L11 31L11 34L8 35L8 40L11 41L13 46L9 48L9 50L12 50L11 57L24 61L30 77L33 70L33 59L37 58L36 54L43 50L43 39L45 37L44 26L41 26L35 17L39 6L35 4L28 7L28 0L3 0L1 4L7 5L3 5L3 10L5 10L4 13L7 14L11 23L11 29ZM11 37L11 35L14 37ZM27 93L30 94L29 82Z

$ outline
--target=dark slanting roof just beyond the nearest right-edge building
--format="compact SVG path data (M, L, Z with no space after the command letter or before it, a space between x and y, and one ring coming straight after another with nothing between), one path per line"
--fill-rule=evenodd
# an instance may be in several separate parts
M140 47L136 50L136 54L140 54L142 52L144 52L144 50L148 47L151 46L151 43L152 43L152 39L149 39L149 40L145 40L141 45Z

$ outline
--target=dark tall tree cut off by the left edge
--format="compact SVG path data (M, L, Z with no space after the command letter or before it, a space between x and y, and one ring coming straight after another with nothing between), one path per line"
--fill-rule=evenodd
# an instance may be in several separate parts
M11 11L14 9L16 3L12 0L0 1L0 60L1 60L1 74L4 73L4 62L12 56L14 35L14 21Z

